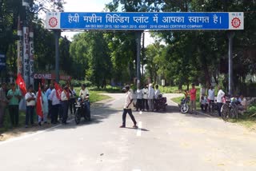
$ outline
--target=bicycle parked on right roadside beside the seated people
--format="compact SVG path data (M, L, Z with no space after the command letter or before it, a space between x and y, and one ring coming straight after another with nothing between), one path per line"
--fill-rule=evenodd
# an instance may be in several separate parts
M234 101L226 100L221 109L222 119L227 121L228 119L238 119L238 105Z

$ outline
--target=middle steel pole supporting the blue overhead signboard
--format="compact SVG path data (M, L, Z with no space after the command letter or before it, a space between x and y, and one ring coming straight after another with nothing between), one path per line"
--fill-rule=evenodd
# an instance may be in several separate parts
M137 35L137 89L139 89L139 85L141 82L141 39L142 32L136 32Z

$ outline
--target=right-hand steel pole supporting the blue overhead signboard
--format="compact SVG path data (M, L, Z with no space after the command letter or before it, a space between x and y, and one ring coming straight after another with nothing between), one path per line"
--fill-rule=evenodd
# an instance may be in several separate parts
M233 38L234 32L228 34L229 38L229 94L233 95Z

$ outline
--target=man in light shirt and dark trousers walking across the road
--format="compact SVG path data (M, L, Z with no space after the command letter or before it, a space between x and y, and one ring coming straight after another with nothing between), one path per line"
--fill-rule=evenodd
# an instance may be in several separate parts
M126 128L126 114L128 113L131 120L134 122L134 128L138 128L137 122L135 121L134 115L131 111L132 108L132 102L133 102L133 94L130 93L130 86L126 85L126 104L123 109L122 113L122 125L120 128Z

